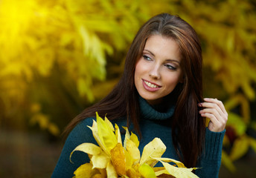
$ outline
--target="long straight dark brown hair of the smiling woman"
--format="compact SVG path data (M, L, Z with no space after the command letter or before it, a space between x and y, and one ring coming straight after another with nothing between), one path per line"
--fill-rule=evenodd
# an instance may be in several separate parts
M172 119L173 145L187 167L196 166L205 142L205 119L199 115L197 104L202 102L202 50L195 30L190 24L167 13L154 16L147 21L133 39L127 53L124 73L115 88L100 102L86 108L67 126L71 131L83 119L107 113L108 119L127 116L127 124L134 125L140 133L138 119L138 92L134 84L135 65L142 56L144 45L152 35L172 38L179 45L182 56L184 81L177 93L176 109Z

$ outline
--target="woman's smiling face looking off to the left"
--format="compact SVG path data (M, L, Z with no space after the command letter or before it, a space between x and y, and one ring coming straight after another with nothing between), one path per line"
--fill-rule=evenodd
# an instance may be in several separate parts
M158 104L182 78L178 44L161 35L150 36L135 66L135 87L140 96L150 105Z

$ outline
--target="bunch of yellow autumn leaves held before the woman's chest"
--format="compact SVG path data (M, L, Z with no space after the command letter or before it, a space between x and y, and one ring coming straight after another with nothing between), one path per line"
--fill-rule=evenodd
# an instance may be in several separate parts
M124 127L126 134L123 145L118 125L115 124L114 128L106 117L103 120L97 113L96 120L97 122L93 121L92 127L88 127L99 146L86 142L74 149L85 152L91 160L74 171L75 178L197 177L192 173L196 168L186 168L182 162L175 159L161 158L166 150L161 139L153 139L140 155L138 137L134 133L129 134L128 128ZM157 162L161 162L164 167L154 168ZM167 162L173 162L173 165Z

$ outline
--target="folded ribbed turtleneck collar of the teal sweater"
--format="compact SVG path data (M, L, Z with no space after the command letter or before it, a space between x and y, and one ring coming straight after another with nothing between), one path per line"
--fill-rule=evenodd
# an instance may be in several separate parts
M170 117L173 116L175 105L170 105L167 111L162 113L162 112L156 111L156 109L150 104L148 104L148 102L145 99L141 98L141 96L139 96L138 101L141 108L141 116L144 119L164 120L164 119L170 119ZM162 105L164 107L164 104Z

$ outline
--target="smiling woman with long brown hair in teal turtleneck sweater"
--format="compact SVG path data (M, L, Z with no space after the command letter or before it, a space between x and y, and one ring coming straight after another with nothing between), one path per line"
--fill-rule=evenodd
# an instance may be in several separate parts
M103 100L80 113L69 133L52 177L72 177L86 154L71 151L83 142L96 144L95 112L129 126L140 135L139 149L159 137L163 157L179 159L199 177L218 177L228 114L217 99L202 99L202 51L193 28L178 16L154 16L138 31L127 53L124 74ZM210 119L205 128L205 117Z

